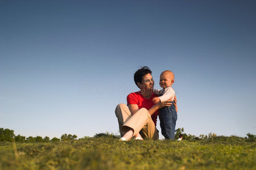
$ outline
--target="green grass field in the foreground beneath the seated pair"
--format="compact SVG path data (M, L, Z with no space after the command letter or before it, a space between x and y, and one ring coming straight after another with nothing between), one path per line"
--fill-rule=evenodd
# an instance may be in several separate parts
M256 169L255 140L118 141L113 135L57 143L0 143L0 169Z

